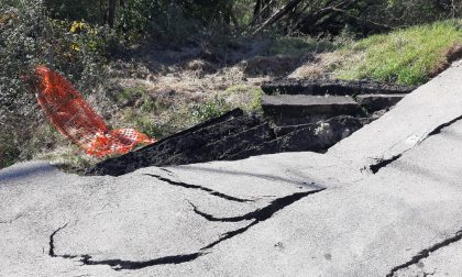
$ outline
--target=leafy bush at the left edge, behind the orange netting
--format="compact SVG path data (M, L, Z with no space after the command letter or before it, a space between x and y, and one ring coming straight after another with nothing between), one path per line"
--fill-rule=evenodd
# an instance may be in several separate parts
M8 134L0 137L0 166L40 152L30 145L32 137L54 137L40 131L47 122L31 82L25 81L37 65L64 74L81 91L92 91L103 78L110 34L102 27L52 20L46 14L42 0L0 3L0 128Z

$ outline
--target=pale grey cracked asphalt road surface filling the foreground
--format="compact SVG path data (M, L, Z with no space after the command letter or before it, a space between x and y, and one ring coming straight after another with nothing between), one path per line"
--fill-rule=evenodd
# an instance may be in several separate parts
M462 65L326 154L0 170L0 276L461 276Z

